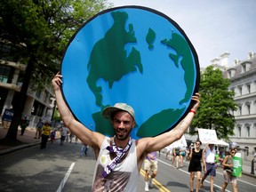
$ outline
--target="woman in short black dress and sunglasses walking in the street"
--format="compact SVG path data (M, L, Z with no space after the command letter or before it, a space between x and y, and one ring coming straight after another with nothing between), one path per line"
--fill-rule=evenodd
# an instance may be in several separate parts
M191 144L190 152L189 152L189 165L188 165L188 172L190 172L190 192L194 190L194 178L196 173L196 192L198 192L200 187L201 181L201 172L202 172L202 165L201 160L204 158L203 149L201 148L202 142L200 140L196 140L196 147ZM205 168L206 172L206 168Z

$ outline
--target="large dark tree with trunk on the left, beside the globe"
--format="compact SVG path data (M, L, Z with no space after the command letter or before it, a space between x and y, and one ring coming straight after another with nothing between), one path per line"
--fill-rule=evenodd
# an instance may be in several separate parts
M110 7L107 0L2 0L0 3L0 55L27 64L19 100L5 140L16 140L28 85L49 84L60 68L70 37L84 21Z

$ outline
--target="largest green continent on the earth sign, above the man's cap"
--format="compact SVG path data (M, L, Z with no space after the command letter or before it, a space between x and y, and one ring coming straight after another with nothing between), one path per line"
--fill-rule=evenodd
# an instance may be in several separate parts
M125 22L128 19L126 12L111 12L114 20L111 28L92 48L90 60L87 64L89 75L87 84L93 92L96 105L102 105L102 87L97 81L102 78L108 82L108 88L119 81L123 76L134 72L139 68L140 73L143 67L140 60L140 52L132 47L132 52L126 56L125 44L137 43L132 24L129 24L129 31L125 30Z

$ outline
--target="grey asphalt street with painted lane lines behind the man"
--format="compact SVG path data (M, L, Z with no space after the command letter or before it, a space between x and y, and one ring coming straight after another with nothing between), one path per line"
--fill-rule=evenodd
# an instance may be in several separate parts
M81 146L81 143L60 146L60 140L56 140L53 144L48 142L45 149L40 149L37 145L0 156L0 191L91 191L95 157L91 148L88 156L80 157ZM161 154L158 159L158 174L156 180L153 180L154 188L149 191L189 191L188 163L184 163L182 169L176 169L170 164L171 161ZM223 175L220 168L217 172L214 190L219 192ZM138 192L144 191L143 170L140 175ZM195 186L196 180L194 188ZM237 186L239 192L256 191L256 180L243 175L238 179ZM209 178L199 191L210 191ZM226 191L232 191L230 184Z

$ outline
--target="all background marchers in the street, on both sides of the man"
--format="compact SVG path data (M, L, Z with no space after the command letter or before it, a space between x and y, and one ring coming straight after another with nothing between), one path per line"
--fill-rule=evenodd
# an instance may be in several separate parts
M73 138L76 138L76 143L78 137L73 132L70 132L65 124L60 124L58 128L60 132L60 145L64 143L73 142ZM36 124L36 135L35 139L41 139L41 148L46 148L47 141L51 139L53 143L56 137L56 130L52 129L51 122L43 121L41 118ZM88 145L81 142L80 156L87 156ZM187 161L188 172L190 173L189 188L190 191L194 191L194 180L196 178L196 192L199 188L204 188L204 180L209 175L210 176L210 191L213 191L214 177L216 176L216 163L220 163L223 166L223 185L222 191L224 192L231 183L233 191L237 192L236 186L236 176L232 175L233 171L233 156L236 154L236 148L230 148L227 156L221 151L218 153L214 144L206 144L204 148L202 147L202 142L196 140L195 143L191 143L189 148L172 148L172 150L166 153L166 158L172 154L172 166L177 169L183 168L183 161ZM160 150L159 156L160 156ZM223 154L222 154L223 153ZM176 162L176 164L174 164ZM143 162L145 170L145 191L149 191L149 188L153 188L152 180L156 178L157 174L157 155L156 151L148 153ZM202 171L203 170L203 171ZM203 173L204 172L204 173ZM195 177L196 176L196 177Z

